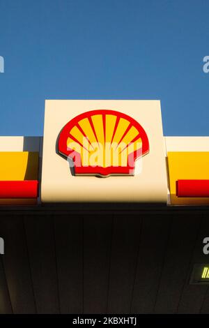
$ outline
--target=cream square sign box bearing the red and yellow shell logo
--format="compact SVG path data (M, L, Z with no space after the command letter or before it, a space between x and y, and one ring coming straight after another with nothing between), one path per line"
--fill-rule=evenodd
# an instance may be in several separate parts
M41 198L166 203L160 101L46 100Z

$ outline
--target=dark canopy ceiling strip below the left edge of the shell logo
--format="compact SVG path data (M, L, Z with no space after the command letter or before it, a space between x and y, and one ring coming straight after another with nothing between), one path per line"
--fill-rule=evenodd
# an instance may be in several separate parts
M54 214L61 313L83 313L83 215Z

